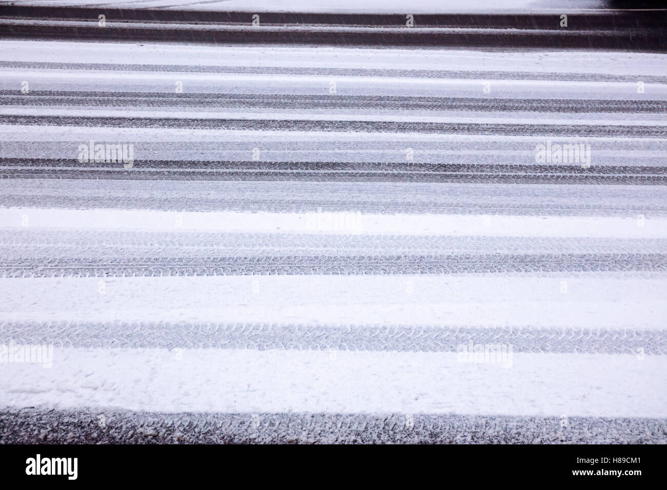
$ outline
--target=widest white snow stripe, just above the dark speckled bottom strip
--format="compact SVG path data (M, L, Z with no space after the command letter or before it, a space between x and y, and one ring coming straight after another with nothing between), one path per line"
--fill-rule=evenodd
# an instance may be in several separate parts
M12 408L667 416L665 356L56 348L0 369Z

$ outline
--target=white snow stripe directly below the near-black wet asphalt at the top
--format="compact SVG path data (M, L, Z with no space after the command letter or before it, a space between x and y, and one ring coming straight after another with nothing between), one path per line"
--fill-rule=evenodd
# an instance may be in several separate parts
M84 0L85 1L85 0ZM245 0L243 0L245 1ZM386 0L382 0L383 5ZM252 67L327 67L456 71L525 71L667 76L667 55L604 51L476 51L474 49L374 49L330 46L207 46L160 43L85 43L3 39L5 61ZM567 60L565 63L564 60ZM638 79L639 80L639 79ZM594 97L595 94L589 94Z

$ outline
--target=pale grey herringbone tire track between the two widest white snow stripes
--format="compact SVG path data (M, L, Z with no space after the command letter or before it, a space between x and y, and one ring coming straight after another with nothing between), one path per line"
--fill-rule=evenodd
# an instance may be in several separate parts
M0 321L0 341L75 348L457 352L470 343L514 352L667 354L666 330L264 323Z

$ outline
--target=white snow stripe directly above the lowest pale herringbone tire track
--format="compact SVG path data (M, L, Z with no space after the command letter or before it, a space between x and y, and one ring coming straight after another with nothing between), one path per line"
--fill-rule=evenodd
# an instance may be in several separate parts
M649 273L0 279L0 321L660 330L664 291Z

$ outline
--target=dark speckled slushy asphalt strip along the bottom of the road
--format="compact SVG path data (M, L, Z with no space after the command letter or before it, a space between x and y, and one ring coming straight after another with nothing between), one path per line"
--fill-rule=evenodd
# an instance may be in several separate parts
M667 443L667 419L7 409L0 443Z

